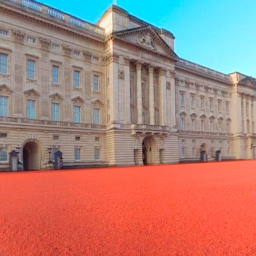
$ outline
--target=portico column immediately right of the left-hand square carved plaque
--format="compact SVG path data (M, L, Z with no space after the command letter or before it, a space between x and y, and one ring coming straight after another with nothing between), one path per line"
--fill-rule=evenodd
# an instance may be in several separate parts
M131 123L131 102L130 102L130 58L124 57L124 86L125 86L125 121Z

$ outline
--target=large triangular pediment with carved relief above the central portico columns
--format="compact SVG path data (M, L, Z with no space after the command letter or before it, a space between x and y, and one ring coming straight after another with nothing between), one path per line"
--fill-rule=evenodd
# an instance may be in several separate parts
M144 49L177 59L177 55L151 26L127 29L113 33L114 37Z

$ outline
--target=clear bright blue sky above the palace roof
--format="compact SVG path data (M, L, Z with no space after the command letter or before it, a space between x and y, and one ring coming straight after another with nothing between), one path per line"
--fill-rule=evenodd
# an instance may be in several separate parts
M95 23L113 1L40 1ZM255 0L117 0L130 14L175 36L184 59L224 73L256 77Z

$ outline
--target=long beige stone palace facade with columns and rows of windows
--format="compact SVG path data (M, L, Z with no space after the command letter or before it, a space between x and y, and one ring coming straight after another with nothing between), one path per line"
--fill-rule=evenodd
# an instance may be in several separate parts
M174 36L111 6L96 25L0 0L0 169L255 158L256 79L179 58Z

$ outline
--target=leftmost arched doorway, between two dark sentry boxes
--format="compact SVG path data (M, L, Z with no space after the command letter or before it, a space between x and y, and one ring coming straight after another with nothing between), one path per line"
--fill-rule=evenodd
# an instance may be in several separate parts
M42 152L39 144L35 141L28 141L23 147L24 170L40 170L41 158Z

